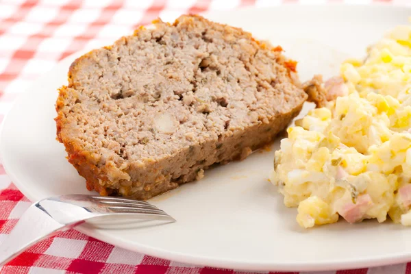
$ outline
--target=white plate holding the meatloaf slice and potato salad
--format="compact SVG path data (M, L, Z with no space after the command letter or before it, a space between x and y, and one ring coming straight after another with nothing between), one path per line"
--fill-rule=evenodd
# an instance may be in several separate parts
M337 74L341 60L364 55L366 46L386 30L407 23L410 12L381 6L281 6L212 13L208 18L282 45L301 61L301 77L308 79L313 73ZM84 179L65 159L63 145L55 140L56 88L66 83L73 58L29 88L3 123L3 165L32 200L88 193ZM151 256L232 269L314 271L411 260L411 232L400 225L339 222L301 229L296 210L283 206L267 180L273 153L274 149L253 153L243 162L206 171L201 182L151 200L177 223L127 230L90 225L78 229Z

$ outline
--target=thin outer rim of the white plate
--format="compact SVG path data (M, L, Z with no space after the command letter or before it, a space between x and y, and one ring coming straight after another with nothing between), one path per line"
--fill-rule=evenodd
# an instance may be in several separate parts
M298 6L301 8L304 7L324 7L330 5L332 7L339 7L343 6L345 8L367 8L367 9L379 9L379 8L390 8L390 10L397 10L399 8L406 8L411 11L411 6L408 5L395 5L393 3L373 3L373 4L346 4L346 3L332 3L332 4L327 4L327 3L308 3L308 4L303 4L301 3L288 3L285 5L277 5L273 7L269 7L269 9L278 9L278 8L283 8L283 7L291 7L291 6ZM242 11L242 10L260 10L260 9L266 9L266 7L242 7L236 9L236 11ZM202 12L201 15L203 16L208 16L209 14L215 14L215 13L223 13L226 12L224 10L218 10L218 11L208 11L208 12ZM411 16L410 16L411 17ZM114 40L113 40L114 42ZM77 51L75 53L72 53L71 55L67 56L66 58L58 61L51 70L47 71L38 79L35 81L31 82L30 85L18 96L16 99L11 103L10 110L15 108L15 105L18 104L18 101L21 101L24 97L27 96L29 93L28 90L32 88L32 86L36 82L42 82L43 79L47 78L47 75L49 75L50 71L53 71L57 66L59 66L60 63L66 61L66 60L74 60L76 56L82 55L92 49L82 49L80 51ZM28 188L25 186L26 184L23 184L18 179L18 176L11 172L12 167L9 166L9 163L7 161L4 161L4 150L5 150L5 142L4 140L4 130L3 128L5 127L6 123L9 123L8 121L9 116L11 111L8 111L4 117L3 121L0 125L0 161L1 164L3 165L3 169L5 170L5 173L10 177L12 184L14 184L19 191L27 197L30 201L36 201L36 197L32 195L32 192L28 190ZM239 262L238 260L232 260L232 259L224 259L224 258L212 258L208 256L192 256L187 253L181 253L181 252L176 252L176 251L169 251L166 249L160 249L157 247L150 247L148 245L132 242L129 243L126 240L123 240L121 238L115 238L115 237L110 237L105 234L102 234L99 232L98 229L93 229L90 225L84 224L84 225L79 225L77 227L74 227L78 232L84 233L92 238L96 238L98 240L102 240L103 242L107 242L110 245L114 245L117 247L121 247L123 249L127 249L129 251L133 252L138 252L142 253L142 255L148 255L148 256L154 256L158 258L164 258L165 260L171 260L175 262L182 262L184 264L192 264L194 266L202 267L202 266L212 266L212 267L219 267L219 268L224 268L224 269L234 269L236 271L242 270L242 271L329 271L329 270L348 270L348 269L358 269L358 268L364 268L364 267L376 267L376 266L384 266L384 265L389 265L389 264L399 264L399 263L404 263L408 262L411 260L411 250L408 252L395 252L395 253L390 253L389 256L372 256L371 258L368 257L362 257L360 259L356 260L329 260L329 261L322 261L319 263L314 263L314 262L297 262L297 263L279 263L279 262L253 262L253 261L242 261Z

